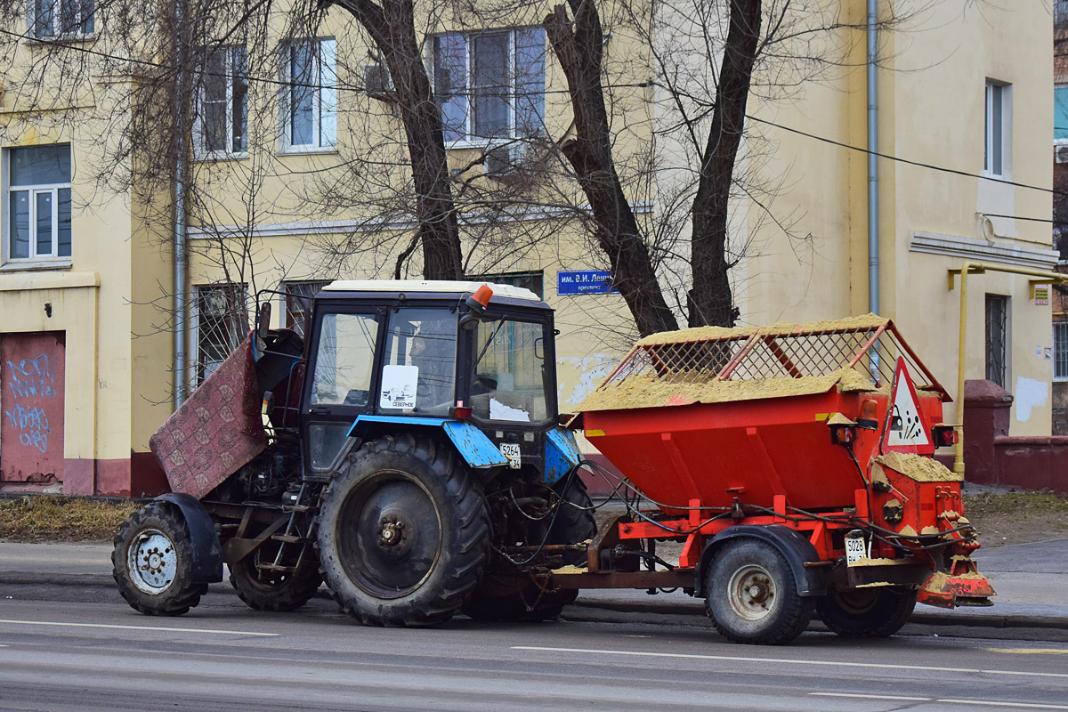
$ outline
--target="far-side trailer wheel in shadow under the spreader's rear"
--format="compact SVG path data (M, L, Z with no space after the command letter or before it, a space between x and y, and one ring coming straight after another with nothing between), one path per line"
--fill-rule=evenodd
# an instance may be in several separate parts
M816 613L838 635L881 638L909 621L916 591L902 588L834 590L816 600Z

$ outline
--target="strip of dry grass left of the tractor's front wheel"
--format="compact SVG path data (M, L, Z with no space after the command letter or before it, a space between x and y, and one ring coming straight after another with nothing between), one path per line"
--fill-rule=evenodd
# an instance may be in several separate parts
M94 541L111 539L140 505L73 496L0 500L0 540Z

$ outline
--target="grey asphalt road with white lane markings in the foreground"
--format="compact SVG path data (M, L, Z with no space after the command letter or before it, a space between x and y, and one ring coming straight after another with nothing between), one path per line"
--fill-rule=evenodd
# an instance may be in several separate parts
M391 630L321 599L265 614L215 594L152 618L97 591L0 600L0 709L1068 711L1061 643L811 631L767 648L640 618Z

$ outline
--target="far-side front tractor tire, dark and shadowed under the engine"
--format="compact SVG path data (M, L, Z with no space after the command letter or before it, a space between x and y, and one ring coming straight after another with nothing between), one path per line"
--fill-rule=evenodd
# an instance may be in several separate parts
M318 561L305 552L294 572L264 571L258 568L261 561L273 561L279 548L278 542L265 542L258 550L249 554L237 564L230 567L230 585L237 591L238 598L255 611L296 611L308 603L323 583L319 575ZM288 547L294 554L299 553L298 547ZM295 560L284 560L290 566Z

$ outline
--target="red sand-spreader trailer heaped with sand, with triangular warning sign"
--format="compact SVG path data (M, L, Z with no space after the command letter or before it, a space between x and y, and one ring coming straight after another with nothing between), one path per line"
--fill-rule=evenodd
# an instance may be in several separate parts
M758 644L814 614L885 636L917 601L990 605L962 476L933 459L956 442L948 400L876 315L643 338L570 427L655 508L602 528L587 568L552 585L679 587L728 639ZM677 566L656 555L664 540L682 542Z

